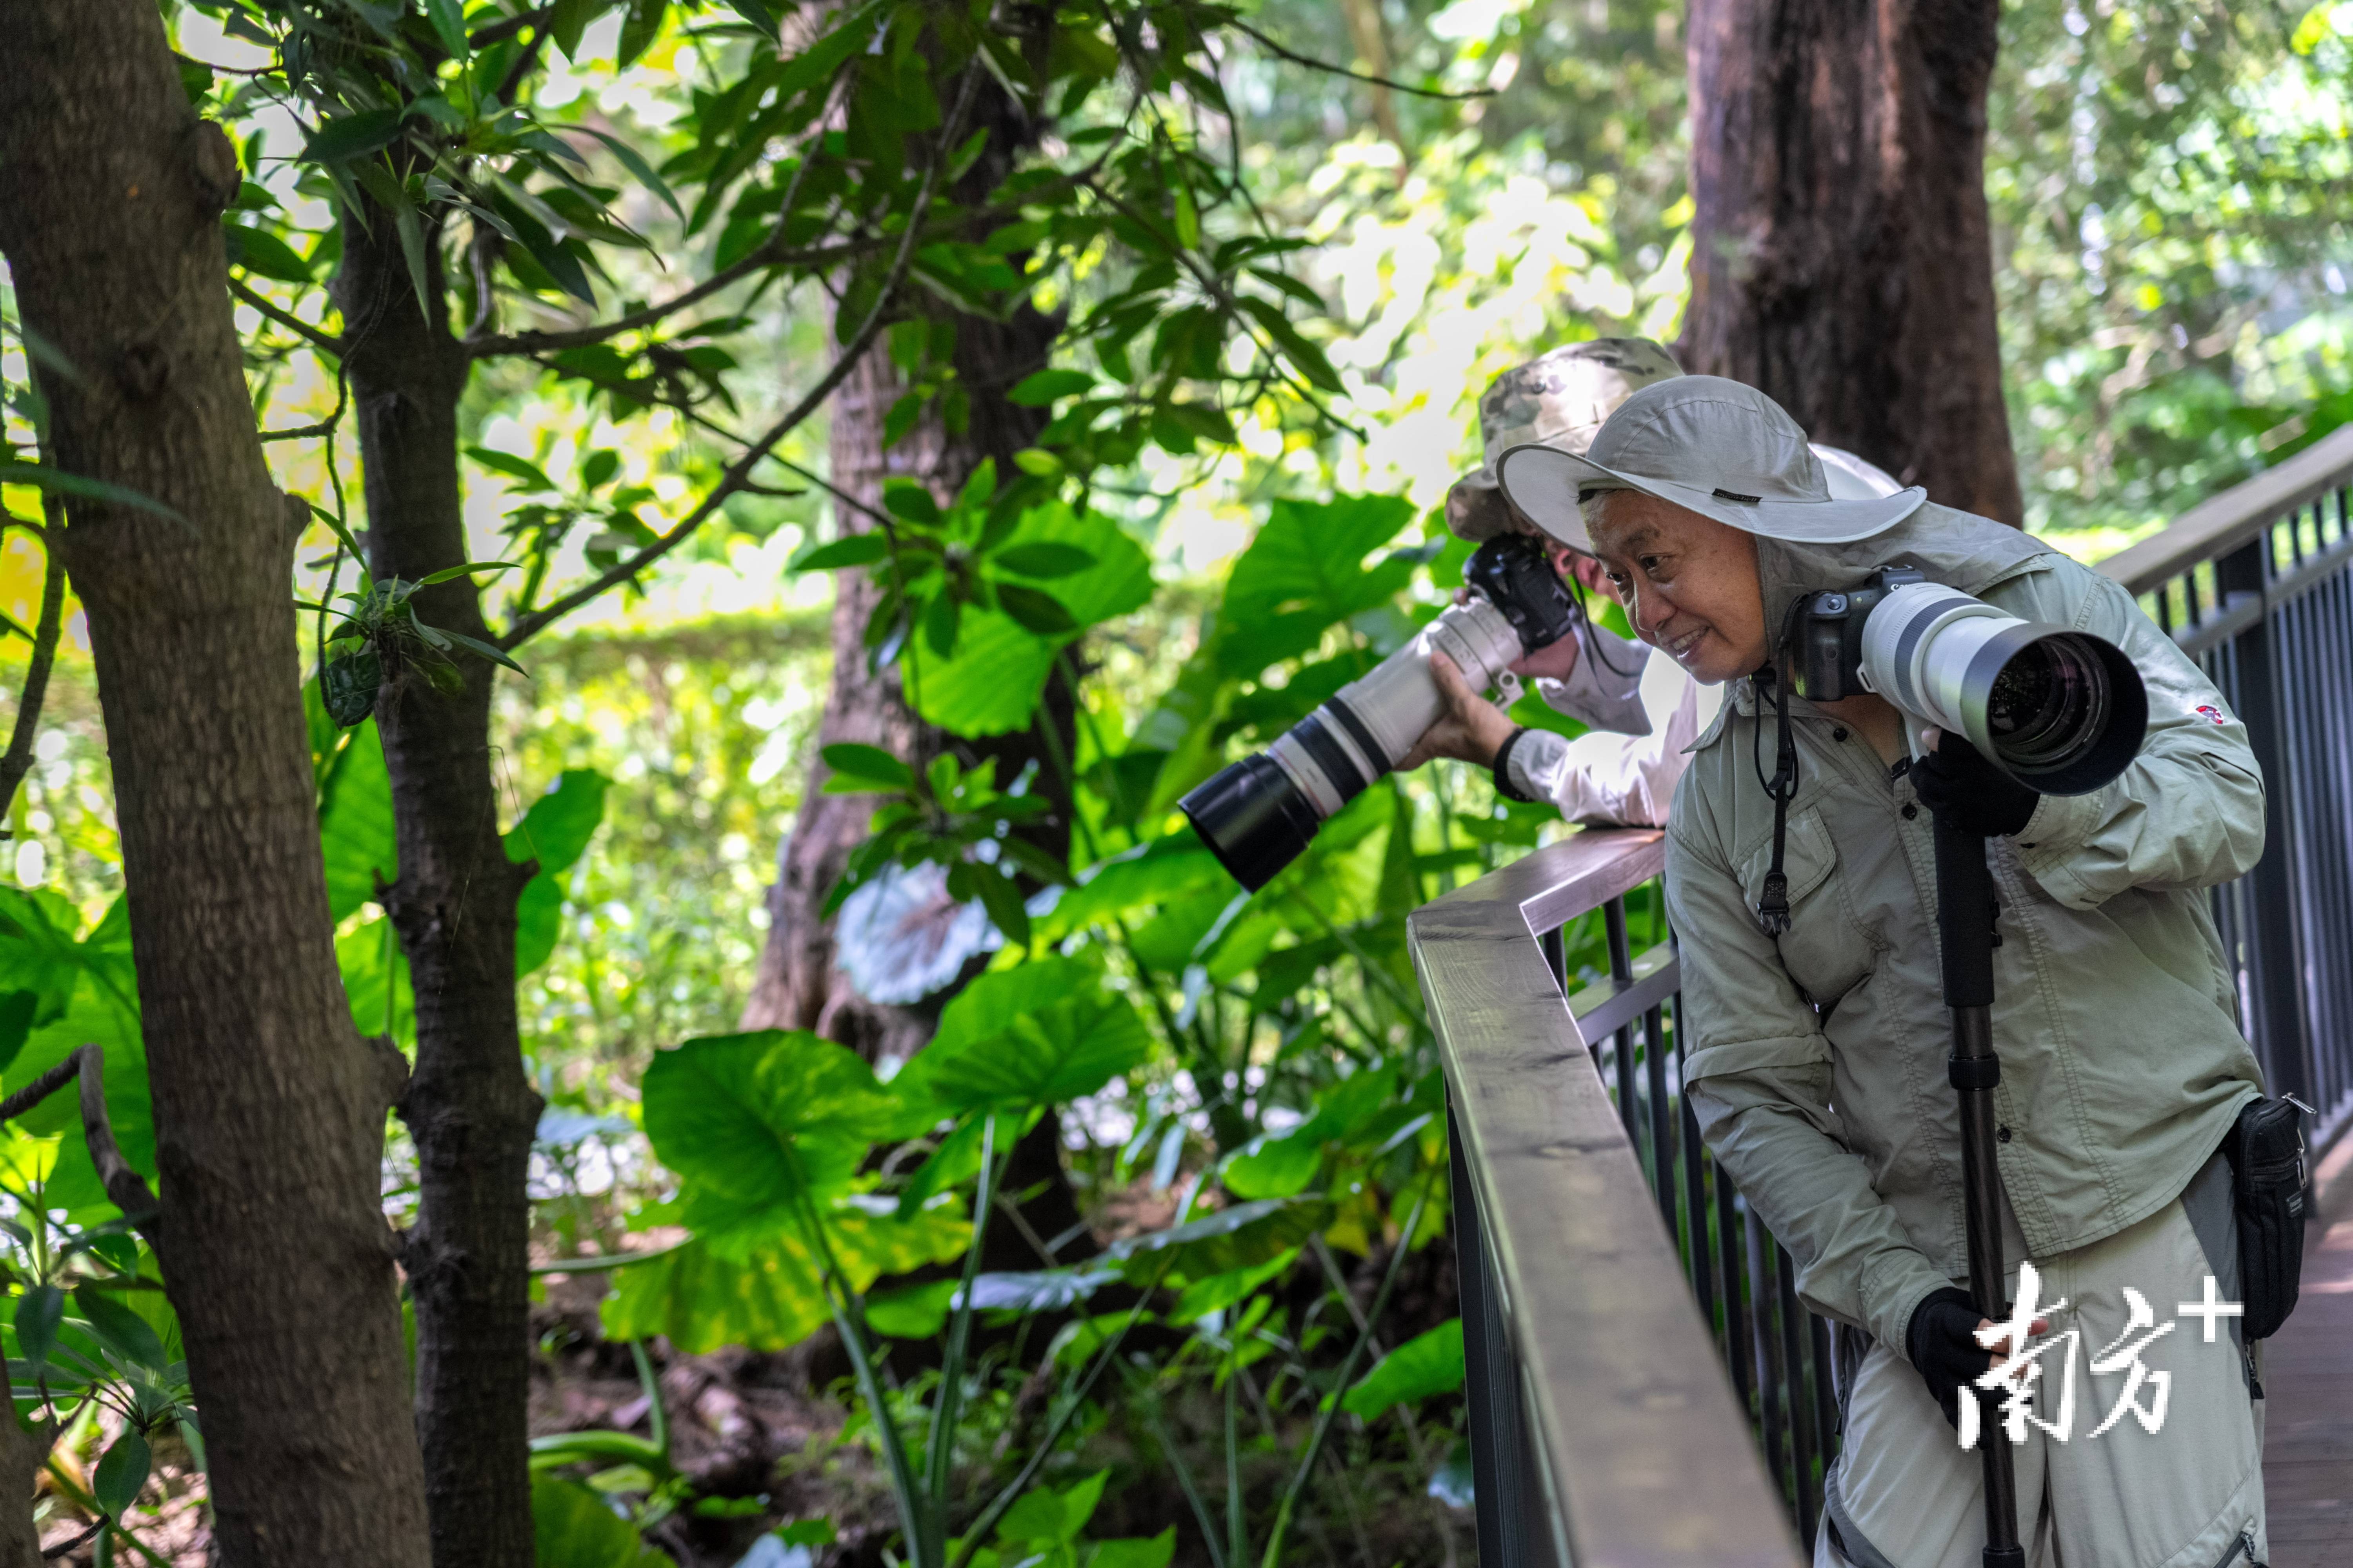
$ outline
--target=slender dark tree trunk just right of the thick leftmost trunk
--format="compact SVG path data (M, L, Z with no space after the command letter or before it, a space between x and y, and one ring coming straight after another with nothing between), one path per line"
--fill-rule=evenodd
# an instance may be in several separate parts
M367 555L379 578L421 581L466 555L456 402L468 360L449 336L438 237L419 308L391 216L344 219L351 397L367 468ZM414 597L428 625L489 639L471 578ZM400 1262L416 1300L416 1439L433 1568L529 1568L529 1199L539 1093L515 1018L515 898L529 865L499 839L489 759L496 670L456 656L464 689L386 663L376 698L393 778L400 875L384 910L416 994L416 1072L400 1119L416 1143L419 1208Z

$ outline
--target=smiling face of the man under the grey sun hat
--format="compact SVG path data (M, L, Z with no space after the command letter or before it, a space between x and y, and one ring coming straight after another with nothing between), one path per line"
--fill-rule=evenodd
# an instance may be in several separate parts
M1635 635L1692 679L1727 682L1765 663L1755 536L1640 491L1612 491L1586 531Z

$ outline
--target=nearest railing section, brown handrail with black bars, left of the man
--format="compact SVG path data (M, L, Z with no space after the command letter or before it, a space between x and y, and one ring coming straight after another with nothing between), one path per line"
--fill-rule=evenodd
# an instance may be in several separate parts
M1661 863L1654 830L1577 832L1407 926L1452 1105L1480 1561L1786 1566L1821 1507L1828 1333L1682 1107Z

